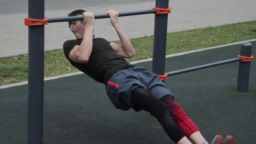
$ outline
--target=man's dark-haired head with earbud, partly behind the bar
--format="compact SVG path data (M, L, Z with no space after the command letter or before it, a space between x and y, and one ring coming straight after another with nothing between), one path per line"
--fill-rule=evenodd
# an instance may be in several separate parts
M82 16L85 10L75 10L68 16ZM78 21L69 21L69 29L75 34L76 39L83 38L85 27ZM94 34L93 34L94 37Z

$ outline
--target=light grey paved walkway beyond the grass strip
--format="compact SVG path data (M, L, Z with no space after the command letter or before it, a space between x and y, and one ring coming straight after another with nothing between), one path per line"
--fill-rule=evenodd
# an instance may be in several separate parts
M102 7L85 7L83 9L95 14L105 13L109 9L118 11L147 10L154 7L155 2L133 4L117 4ZM170 0L172 13L168 18L168 32L196 29L208 26L219 26L228 23L239 23L256 20L255 0ZM74 9L48 10L47 17L67 16ZM24 26L27 13L1 14L0 57L14 56L28 52L28 28ZM16 20L16 21L14 21ZM154 34L154 15L120 17L121 28L130 38ZM118 36L109 19L96 20L96 37L104 37L109 41ZM61 49L67 39L75 38L69 31L68 24L50 23L45 26L45 50Z

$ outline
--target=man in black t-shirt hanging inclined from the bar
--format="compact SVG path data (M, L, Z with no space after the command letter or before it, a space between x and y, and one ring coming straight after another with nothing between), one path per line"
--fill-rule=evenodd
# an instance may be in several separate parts
M92 79L105 84L107 95L116 108L144 110L154 115L175 143L191 144L189 138L195 144L208 144L159 77L123 59L134 56L135 49L118 25L118 12L109 10L107 13L121 44L102 38L93 39L93 13L75 10L69 16L83 15L84 20L69 22L69 28L76 37L63 44L69 62ZM223 137L216 135L210 144L223 144ZM234 137L226 137L225 144L235 144Z

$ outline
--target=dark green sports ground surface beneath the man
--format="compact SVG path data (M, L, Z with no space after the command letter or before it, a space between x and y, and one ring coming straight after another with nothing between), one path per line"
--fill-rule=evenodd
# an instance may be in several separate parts
M256 51L256 42L253 42ZM236 57L240 45L168 58L166 72ZM151 69L151 62L139 63ZM256 61L249 92L237 93L238 62L169 77L165 83L210 141L215 134L256 144ZM0 89L0 144L26 143L28 86ZM45 82L45 144L169 144L147 112L115 109L105 86L85 75Z

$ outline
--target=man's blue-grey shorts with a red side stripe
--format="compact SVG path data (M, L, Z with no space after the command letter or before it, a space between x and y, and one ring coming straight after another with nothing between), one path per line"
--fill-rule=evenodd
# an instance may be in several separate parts
M139 86L147 89L156 99L172 95L158 75L140 66L115 72L108 80L106 92L115 108L127 111L130 108L135 109L131 103L131 91Z

